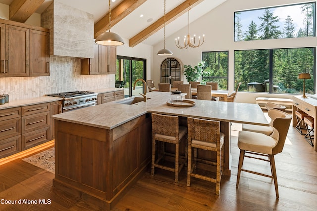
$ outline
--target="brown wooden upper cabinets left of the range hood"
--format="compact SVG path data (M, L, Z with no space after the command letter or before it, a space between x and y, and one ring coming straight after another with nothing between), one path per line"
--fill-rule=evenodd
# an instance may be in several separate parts
M0 77L50 75L48 30L1 22L10 24L0 23Z

